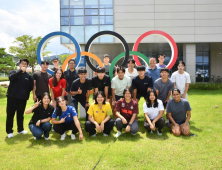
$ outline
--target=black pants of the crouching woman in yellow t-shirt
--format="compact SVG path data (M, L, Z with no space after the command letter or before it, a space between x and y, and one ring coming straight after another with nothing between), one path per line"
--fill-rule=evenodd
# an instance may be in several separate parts
M109 135L110 132L113 130L114 126L114 120L109 119L105 124L104 124L104 130L103 133ZM86 132L89 132L89 135L92 136L96 133L96 126L94 123L90 122L89 120L85 122L85 130Z

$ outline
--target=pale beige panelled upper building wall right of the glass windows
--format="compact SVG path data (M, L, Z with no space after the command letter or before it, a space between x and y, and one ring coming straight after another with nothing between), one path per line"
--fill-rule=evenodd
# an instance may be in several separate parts
M128 43L149 30L170 34L176 42L220 42L221 0L114 0L114 31ZM150 36L143 42L163 42Z

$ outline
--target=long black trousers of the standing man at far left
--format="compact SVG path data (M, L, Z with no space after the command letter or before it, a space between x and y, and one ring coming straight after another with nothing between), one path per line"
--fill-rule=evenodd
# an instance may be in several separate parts
M15 116L15 112L17 111L17 130L21 132L24 130L23 120L24 120L24 111L26 107L27 100L15 99L11 97L7 97L7 118L6 118L6 132L13 133L13 120Z

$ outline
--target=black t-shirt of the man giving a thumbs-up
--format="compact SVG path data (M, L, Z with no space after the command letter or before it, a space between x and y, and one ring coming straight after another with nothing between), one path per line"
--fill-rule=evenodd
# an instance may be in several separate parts
M85 100L87 90L92 90L92 79L86 78L86 81L84 83L80 82L80 78L76 79L72 83L70 91L78 91L79 88L82 90L82 93L77 94L77 95L73 95L72 97L77 100Z

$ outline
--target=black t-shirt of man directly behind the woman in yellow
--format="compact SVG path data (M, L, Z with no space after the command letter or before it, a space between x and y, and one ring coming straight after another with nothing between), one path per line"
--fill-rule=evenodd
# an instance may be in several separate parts
M103 79L100 80L99 77L96 75L92 78L92 87L98 88L98 91L104 91L104 88L109 86L110 87L110 77L108 75L104 75Z

